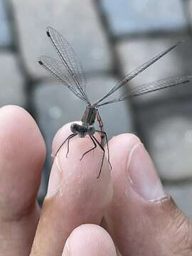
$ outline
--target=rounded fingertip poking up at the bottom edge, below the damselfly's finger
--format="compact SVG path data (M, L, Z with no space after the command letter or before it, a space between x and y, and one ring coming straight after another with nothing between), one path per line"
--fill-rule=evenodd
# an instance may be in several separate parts
M105 229L85 224L70 234L62 256L117 256L114 243Z

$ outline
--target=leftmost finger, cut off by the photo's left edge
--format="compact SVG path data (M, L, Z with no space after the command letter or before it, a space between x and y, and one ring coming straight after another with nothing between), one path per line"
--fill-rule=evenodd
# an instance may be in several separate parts
M21 107L0 108L0 255L28 255L31 250L45 156L31 115Z

